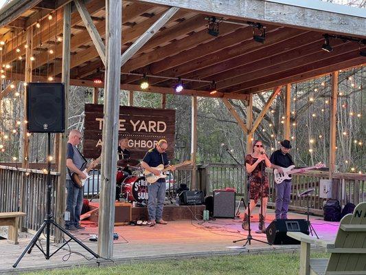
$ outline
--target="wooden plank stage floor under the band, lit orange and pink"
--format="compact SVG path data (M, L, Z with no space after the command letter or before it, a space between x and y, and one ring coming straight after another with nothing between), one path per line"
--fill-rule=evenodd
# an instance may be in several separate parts
M242 216L242 214L241 214ZM306 219L303 214L290 213L290 219ZM273 210L268 210L266 225L274 219ZM334 240L339 223L325 222L321 217L311 217L311 222L319 237ZM253 214L253 230L258 228L258 208ZM247 254L263 252L290 252L299 250L299 245L266 245L253 241L243 248L243 243L233 243L233 240L247 236L241 228L241 219L216 219L215 221L183 220L171 221L168 225L148 226L116 226L115 232L119 239L114 241L113 261L125 263L130 261L148 261L156 259L181 259L197 256L222 254ZM97 252L97 243L89 241L90 234L97 234L98 228L86 228L74 235ZM72 252L60 250L51 259L45 260L41 252L34 248L31 254L25 254L18 267L12 265L30 242L32 236L20 237L19 245L12 245L6 240L0 240L1 265L0 274L24 272L30 270L65 268L78 265L97 265L95 259L87 261L92 256L76 243L70 243ZM266 241L265 234L255 234L253 237ZM41 242L43 247L45 241ZM66 246L67 248L67 246ZM52 251L56 247L52 245ZM68 249L68 248L67 248ZM106 261L104 261L106 262Z

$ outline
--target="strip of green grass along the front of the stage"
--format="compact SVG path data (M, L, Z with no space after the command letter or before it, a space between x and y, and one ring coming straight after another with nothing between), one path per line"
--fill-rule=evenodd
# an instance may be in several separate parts
M312 253L312 258L327 258L326 253ZM69 270L32 272L36 275L114 275L114 274L299 274L299 254L270 253L259 255L212 256L204 259L185 259L169 261L148 261L126 263L111 267L77 267Z

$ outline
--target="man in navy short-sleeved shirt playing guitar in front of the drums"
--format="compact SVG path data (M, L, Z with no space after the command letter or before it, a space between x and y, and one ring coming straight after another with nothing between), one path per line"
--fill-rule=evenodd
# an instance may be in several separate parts
M163 164L164 168L170 167L166 151L168 149L168 142L166 140L159 140L155 148L146 152L144 159L142 159L141 167L159 176L160 171L154 167ZM175 170L171 166L171 170ZM154 226L157 223L167 224L163 220L163 207L165 200L165 179L158 179L154 184L148 186L148 225Z

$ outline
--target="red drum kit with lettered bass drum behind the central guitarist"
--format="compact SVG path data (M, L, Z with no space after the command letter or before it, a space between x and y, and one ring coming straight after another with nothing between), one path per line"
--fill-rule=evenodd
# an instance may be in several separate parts
M137 159L119 159L117 162L117 186L121 186L120 194L126 201L147 205L148 182L144 169ZM131 172L128 173L126 170Z

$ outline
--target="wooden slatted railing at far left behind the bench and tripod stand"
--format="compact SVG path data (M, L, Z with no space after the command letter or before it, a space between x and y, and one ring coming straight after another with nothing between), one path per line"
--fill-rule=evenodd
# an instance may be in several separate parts
M59 173L51 173L52 210L55 212L56 184ZM36 231L46 214L47 175L42 170L0 166L0 212L25 212L24 230ZM53 228L52 228L52 234Z

